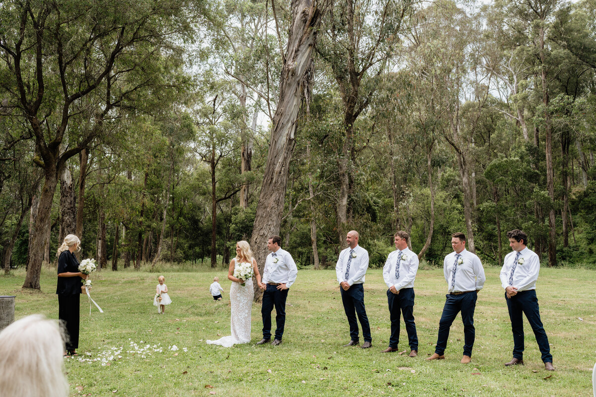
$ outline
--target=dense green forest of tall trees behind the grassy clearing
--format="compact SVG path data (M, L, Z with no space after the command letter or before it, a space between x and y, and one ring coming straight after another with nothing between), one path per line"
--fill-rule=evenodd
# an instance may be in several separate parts
M373 267L396 230L430 265L460 231L502 263L517 228L543 264L596 262L596 1L321 3L281 214L299 267L351 229ZM5 271L68 233L113 270L228 263L296 4L0 2Z

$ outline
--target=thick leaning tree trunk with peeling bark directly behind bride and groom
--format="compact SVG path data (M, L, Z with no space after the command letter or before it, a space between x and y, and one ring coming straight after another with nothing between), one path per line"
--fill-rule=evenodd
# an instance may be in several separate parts
M296 145L298 113L303 99L308 101L310 98L313 77L311 55L322 16L321 2L317 0L293 0L291 5L292 21L281 69L280 95L250 238L261 272L268 254L267 240L280 232L288 167ZM254 299L258 302L262 292L256 283L254 289Z

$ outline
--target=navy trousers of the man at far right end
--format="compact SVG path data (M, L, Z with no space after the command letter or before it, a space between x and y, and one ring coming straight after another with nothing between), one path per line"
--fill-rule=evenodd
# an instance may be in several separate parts
M530 289L518 292L511 299L507 298L507 294L505 293L505 301L507 301L507 310L509 310L509 318L511 319L511 331L513 332L513 357L517 358L517 360L523 360L523 312L536 336L538 348L542 353L542 362L552 362L547 333L544 331L542 321L540 320L536 290Z

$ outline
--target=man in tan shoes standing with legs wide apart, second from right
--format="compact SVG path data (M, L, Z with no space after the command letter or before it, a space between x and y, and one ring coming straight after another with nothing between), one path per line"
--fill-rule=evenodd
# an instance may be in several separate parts
M447 282L447 295L443 314L439 321L439 336L432 356L426 360L443 360L445 348L449 337L449 327L461 311L461 320L464 323L464 355L462 364L471 361L474 346L474 309L478 291L484 286L486 280L484 268L480 258L465 249L464 233L451 235L453 251L443 261L443 273Z

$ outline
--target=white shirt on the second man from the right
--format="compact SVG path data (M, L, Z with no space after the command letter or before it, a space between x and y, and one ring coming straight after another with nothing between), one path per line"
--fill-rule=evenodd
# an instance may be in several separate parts
M445 281L447 282L447 291L451 292L465 292L482 289L486 276L480 258L475 254L464 248L460 252L462 263L455 264L455 251L445 257L443 260L443 274L445 274ZM451 277L453 275L453 267L457 266L455 270L455 286L451 286Z

